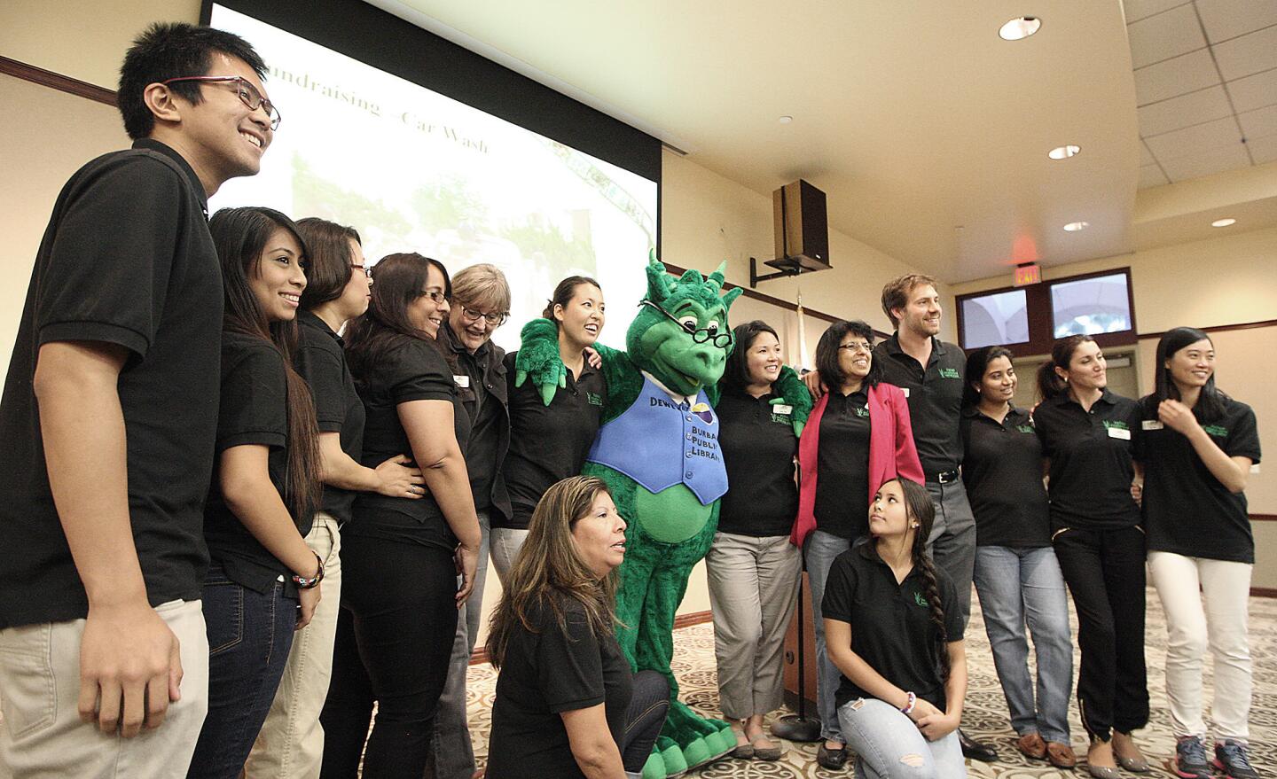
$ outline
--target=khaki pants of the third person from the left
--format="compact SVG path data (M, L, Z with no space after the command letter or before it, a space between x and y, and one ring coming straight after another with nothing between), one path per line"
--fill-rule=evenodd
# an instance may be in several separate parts
M341 608L341 534L332 515L317 512L306 545L323 559L323 596L310 624L292 639L275 702L244 764L252 779L315 779L323 762L319 713L332 678L332 645Z

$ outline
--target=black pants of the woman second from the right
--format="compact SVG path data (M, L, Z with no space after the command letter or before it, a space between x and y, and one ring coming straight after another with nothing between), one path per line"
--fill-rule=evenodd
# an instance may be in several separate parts
M1055 556L1078 609L1078 709L1093 738L1148 724L1144 668L1144 533L1079 530L1055 534Z

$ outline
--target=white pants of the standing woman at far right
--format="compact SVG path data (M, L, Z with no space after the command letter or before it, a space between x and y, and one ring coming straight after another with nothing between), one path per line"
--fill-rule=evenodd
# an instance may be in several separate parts
M1148 567L1166 612L1166 697L1175 736L1205 737L1202 656L1209 649L1214 656L1211 716L1218 729L1216 738L1246 741L1251 688L1246 617L1251 566L1149 552Z

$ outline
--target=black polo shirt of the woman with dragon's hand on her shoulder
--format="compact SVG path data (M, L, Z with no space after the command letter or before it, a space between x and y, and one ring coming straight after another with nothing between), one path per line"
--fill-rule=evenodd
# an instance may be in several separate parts
M559 388L547 406L530 381L515 386L517 356L517 351L506 355L511 430L503 473L513 511L508 521L498 522L493 516L492 526L526 530L545 490L581 473L599 432L608 384L586 361L580 378L567 372L567 387Z

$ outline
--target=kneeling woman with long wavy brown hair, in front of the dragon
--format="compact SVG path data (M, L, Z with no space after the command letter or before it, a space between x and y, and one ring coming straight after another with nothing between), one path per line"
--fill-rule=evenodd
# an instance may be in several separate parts
M669 686L631 674L616 639L616 577L626 522L607 485L572 476L548 490L492 617L501 669L488 779L623 779L642 770Z

